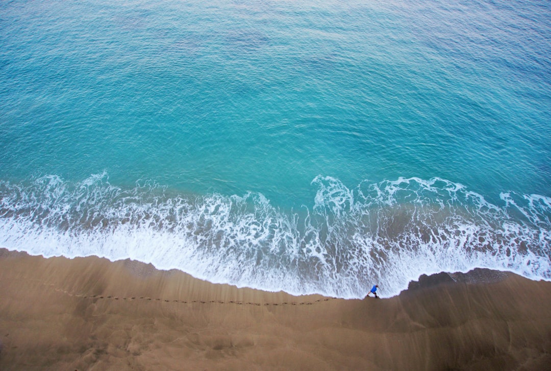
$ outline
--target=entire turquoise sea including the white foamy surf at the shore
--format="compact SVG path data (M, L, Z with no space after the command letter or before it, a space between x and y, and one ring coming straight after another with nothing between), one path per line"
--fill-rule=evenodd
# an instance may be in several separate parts
M551 278L547 2L2 2L0 245L362 297Z

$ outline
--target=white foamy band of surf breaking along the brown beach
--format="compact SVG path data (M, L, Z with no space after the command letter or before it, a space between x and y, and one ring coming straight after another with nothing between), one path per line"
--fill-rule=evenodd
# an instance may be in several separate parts
M214 283L291 294L393 296L421 274L491 268L551 279L551 200L501 205L433 178L318 176L314 204L284 211L260 193L177 194L155 182L0 182L0 245L33 255L131 258Z

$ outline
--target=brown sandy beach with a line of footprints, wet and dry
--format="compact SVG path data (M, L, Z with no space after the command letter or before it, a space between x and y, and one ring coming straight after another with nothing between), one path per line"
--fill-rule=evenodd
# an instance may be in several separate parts
M551 283L476 271L342 300L0 249L0 348L0 370L545 370Z

